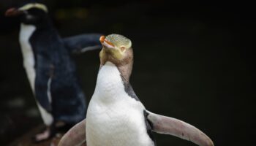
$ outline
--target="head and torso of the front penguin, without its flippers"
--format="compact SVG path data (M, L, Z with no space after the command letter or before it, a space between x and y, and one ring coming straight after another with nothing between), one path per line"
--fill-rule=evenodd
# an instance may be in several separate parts
M154 146L146 109L129 84L131 42L116 34L101 42L101 66L86 114L87 145Z

